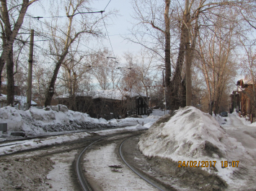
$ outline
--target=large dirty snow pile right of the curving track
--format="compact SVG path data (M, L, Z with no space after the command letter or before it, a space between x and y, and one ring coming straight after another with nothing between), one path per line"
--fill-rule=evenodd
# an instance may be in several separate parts
M158 156L186 163L216 161L217 172L223 177L229 176L234 168L221 168L221 161L237 161L237 158L231 159L231 153L244 151L242 144L226 134L213 116L192 106L159 118L149 131L141 136L138 147L148 157Z

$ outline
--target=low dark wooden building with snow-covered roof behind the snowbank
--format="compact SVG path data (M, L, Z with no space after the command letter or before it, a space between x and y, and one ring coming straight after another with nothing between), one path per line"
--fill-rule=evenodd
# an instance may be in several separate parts
M125 118L148 114L148 101L143 93L127 90L91 90L58 96L58 103L69 109L88 113L94 118Z

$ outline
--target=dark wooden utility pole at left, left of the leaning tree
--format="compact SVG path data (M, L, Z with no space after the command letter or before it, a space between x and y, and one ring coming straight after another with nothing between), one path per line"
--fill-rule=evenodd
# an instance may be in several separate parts
M27 77L27 106L31 106L32 94L32 62L33 62L33 47L34 47L34 30L31 29L30 35L30 56L28 60L28 77Z

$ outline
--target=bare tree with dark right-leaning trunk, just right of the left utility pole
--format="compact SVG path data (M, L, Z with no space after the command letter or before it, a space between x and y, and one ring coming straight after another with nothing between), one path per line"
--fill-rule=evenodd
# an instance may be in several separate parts
M45 106L50 105L51 99L54 95L55 83L60 69L66 55L69 53L69 48L72 43L76 42L76 39L81 34L100 34L97 24L103 17L89 17L89 14L82 14L84 11L90 11L88 8L88 1L65 1L67 25L66 32L63 32L61 25L58 24L57 19L49 25L51 31L51 37L53 39L50 44L50 52L56 62L56 67L53 71L52 78L48 86L48 91L45 95ZM58 11L56 11L58 13ZM90 14L92 16L92 14ZM105 15L105 17L107 14ZM54 23L54 24L53 24Z

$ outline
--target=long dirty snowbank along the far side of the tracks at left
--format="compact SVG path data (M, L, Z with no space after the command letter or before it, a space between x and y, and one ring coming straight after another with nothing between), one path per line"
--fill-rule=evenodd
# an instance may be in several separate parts
M53 109L55 109L53 107ZM65 111L65 110L64 110ZM114 126L134 126L156 121L157 118L123 118L106 121L104 118L91 118L87 113L66 110L45 111L31 107L22 111L10 106L0 108L0 123L7 123L8 136L12 131L25 131L27 136L56 134L58 131L83 131Z

